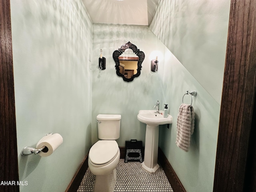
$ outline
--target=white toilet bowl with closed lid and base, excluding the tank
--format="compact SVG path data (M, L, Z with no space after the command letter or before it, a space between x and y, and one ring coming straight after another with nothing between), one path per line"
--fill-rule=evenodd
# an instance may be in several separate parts
M89 151L88 167L96 175L94 192L113 192L120 150L115 140L100 140Z

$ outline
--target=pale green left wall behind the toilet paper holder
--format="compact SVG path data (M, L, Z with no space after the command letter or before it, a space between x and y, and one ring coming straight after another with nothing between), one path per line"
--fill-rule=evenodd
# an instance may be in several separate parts
M92 22L80 0L11 0L21 192L63 192L91 146ZM63 144L21 156L48 132Z

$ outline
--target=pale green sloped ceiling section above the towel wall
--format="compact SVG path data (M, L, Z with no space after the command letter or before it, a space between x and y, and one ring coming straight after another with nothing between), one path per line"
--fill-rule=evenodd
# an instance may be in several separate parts
M160 0L150 30L220 104L230 0Z

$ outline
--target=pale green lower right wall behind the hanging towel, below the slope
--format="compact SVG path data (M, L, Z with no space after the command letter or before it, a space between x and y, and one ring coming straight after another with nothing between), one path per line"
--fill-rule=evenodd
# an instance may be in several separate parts
M195 113L194 134L190 148L184 152L176 146L177 116L186 91L197 91L192 97ZM170 128L160 126L159 146L174 168L187 192L212 191L216 157L220 105L166 48L162 101L169 104L173 117ZM184 96L184 103L191 98Z

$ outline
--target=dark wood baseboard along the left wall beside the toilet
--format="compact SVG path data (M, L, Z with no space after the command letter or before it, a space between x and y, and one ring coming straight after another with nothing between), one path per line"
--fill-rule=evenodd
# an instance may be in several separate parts
M70 181L70 184L66 188L65 192L76 192L77 191L87 169L88 169L88 154L85 156L83 162L80 164L78 170L74 174L74 177Z

